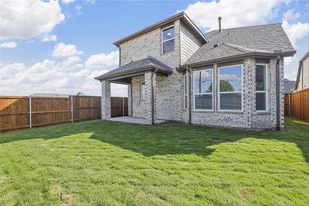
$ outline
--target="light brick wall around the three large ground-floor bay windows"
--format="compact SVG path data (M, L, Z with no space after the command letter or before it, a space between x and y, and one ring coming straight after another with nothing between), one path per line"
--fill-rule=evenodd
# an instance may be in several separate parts
M284 128L284 60L280 60L280 128ZM194 111L193 73L192 85L192 124L226 126L252 129L274 129L276 127L276 59L271 59L267 67L267 101L268 111L258 112L255 110L255 59L246 58L242 65L243 69L243 110L237 112L219 111L218 109L218 65L214 64L214 111ZM189 89L189 88L188 88ZM183 112L183 122L187 122L189 115Z

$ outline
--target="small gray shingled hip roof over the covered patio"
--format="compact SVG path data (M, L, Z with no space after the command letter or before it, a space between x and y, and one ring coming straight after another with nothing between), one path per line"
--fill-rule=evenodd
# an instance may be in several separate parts
M156 58L153 58L152 56L148 56L147 58L142 58L140 60L132 61L126 65L123 65L122 67L118 67L117 69L114 69L112 71L109 71L108 73L104 73L101 76L98 76L95 78L96 80L104 80L106 78L114 77L114 76L121 76L123 74L127 73L134 73L138 71L144 71L148 69L158 69L158 71L161 71L163 73L172 73L173 69L168 67L168 65L163 64Z

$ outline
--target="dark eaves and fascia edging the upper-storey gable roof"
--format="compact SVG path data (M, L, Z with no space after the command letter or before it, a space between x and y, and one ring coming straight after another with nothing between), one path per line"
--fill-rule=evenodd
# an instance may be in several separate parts
M183 22L185 22L187 26L190 27L191 32L193 32L193 34L195 34L196 37L198 37L198 39L200 39L202 43L207 43L207 38L205 37L205 35L201 32L201 30L198 29L198 27L196 27L196 25L193 23L193 21L191 21L191 19L187 16L187 14L185 14L185 12L179 12L178 14L175 14L174 16L170 16L167 19L163 19L162 21L159 21L158 23L150 25L149 27L146 27L143 30L139 30L138 32L130 34L129 36L126 36L120 39L119 41L116 41L113 44L119 45L121 43L124 43L125 41L135 38L136 36L145 34L146 32L149 32L150 30L155 30L163 25L172 23L178 19L181 19Z

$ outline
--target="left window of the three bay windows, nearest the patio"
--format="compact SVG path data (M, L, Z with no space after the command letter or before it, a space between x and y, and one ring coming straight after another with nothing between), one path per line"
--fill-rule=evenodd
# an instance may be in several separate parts
M212 110L212 69L194 71L194 108Z

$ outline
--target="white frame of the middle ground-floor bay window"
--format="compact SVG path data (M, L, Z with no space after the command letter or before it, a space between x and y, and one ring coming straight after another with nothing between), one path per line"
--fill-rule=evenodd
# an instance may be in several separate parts
M220 69L224 69L224 68L229 68L229 67L237 67L240 66L242 69L242 91L222 91L220 92ZM243 71L244 67L242 64L240 65L229 65L229 66L225 66L225 67L218 67L218 111L222 111L222 112L242 112L244 111L244 71ZM242 108L241 110L234 110L234 109L220 109L220 94L221 93L241 93L242 94Z

